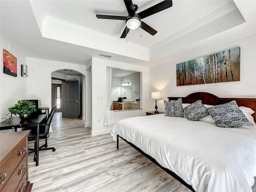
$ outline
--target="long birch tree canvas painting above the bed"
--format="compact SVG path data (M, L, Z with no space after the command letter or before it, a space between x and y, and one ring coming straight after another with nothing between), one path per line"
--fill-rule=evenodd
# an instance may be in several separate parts
M240 81L240 47L176 65L177 86Z

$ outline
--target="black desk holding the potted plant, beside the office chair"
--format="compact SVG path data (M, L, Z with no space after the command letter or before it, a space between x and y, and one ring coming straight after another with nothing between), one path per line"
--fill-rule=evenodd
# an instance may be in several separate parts
M21 120L20 117L14 117L11 122L3 121L0 122L0 130L14 129L21 127L35 127L36 126L36 166L38 166L39 159L39 127L40 122L47 117L47 114L38 115L35 118L30 118L29 120Z

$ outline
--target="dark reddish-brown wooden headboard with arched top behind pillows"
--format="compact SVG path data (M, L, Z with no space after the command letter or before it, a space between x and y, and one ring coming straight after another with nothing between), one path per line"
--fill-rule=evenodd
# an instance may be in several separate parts
M202 103L207 105L219 105L235 100L238 106L245 106L254 111L256 110L256 98L219 98L216 95L206 92L196 92L186 97L168 97L169 101L177 100L178 98L182 98L182 103L193 103L197 100L202 100ZM254 122L256 122L255 113L252 114L252 116L254 118Z

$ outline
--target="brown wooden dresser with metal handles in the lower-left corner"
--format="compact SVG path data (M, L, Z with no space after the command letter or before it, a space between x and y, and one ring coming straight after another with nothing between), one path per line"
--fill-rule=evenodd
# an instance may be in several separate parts
M0 192L30 192L28 131L0 134Z

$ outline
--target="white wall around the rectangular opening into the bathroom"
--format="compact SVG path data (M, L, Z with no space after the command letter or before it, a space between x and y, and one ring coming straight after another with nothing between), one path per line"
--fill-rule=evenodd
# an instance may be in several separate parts
M104 117L107 110L106 106L106 68L122 68L127 70L133 70L142 72L142 102L141 108L143 110L133 110L130 112L114 112L115 122L121 119L132 117L132 116L144 116L145 112L148 110L148 103L150 101L149 92L149 68L136 66L132 64L126 64L121 62L114 62L112 60L104 60L100 58L92 58L92 132L91 135L98 135L111 132L111 128L114 124L110 126L104 126ZM97 96L102 96L102 100L97 100ZM98 119L100 123L98 123Z

